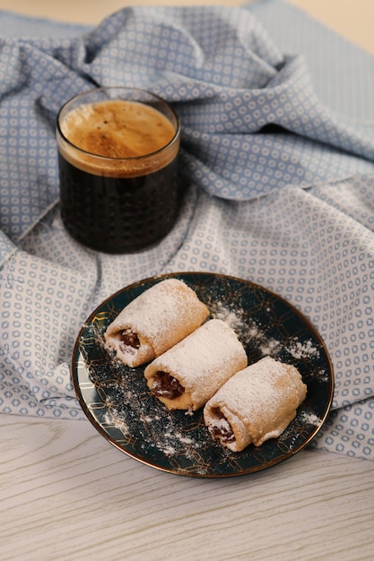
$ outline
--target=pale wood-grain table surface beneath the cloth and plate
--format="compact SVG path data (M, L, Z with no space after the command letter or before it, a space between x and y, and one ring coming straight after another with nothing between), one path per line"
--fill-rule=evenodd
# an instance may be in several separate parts
M370 0L353 15L352 0L292 2L374 53ZM0 0L88 23L124 4ZM0 431L0 561L374 558L372 462L306 449L254 475L195 479L136 462L89 421L0 415Z

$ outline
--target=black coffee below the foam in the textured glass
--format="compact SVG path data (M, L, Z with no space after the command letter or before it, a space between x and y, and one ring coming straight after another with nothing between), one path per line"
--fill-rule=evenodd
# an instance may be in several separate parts
M61 216L78 242L106 253L144 249L165 237L178 212L177 160L140 177L105 177L59 154Z

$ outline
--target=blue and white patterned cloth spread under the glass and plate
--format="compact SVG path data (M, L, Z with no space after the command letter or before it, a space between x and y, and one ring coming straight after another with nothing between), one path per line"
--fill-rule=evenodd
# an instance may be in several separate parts
M374 460L374 59L279 0L126 8L95 28L0 12L0 411L83 419L69 364L91 311L176 271L299 307L335 368L313 444ZM57 110L95 85L168 99L188 189L135 255L84 249L58 208Z

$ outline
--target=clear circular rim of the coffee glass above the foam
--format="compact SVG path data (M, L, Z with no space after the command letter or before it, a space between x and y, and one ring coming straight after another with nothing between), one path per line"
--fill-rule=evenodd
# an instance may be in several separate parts
M71 142L68 138L66 138L65 134L63 133L63 131L61 130L61 126L60 126L60 117L61 114L63 113L63 111L65 110L65 108L68 106L69 103L71 103L72 101L74 101L75 99L80 99L83 96L90 94L90 93L94 93L95 91L100 92L100 91L118 91L118 90L122 90L122 91L139 91L141 93L147 94L152 96L152 98L156 99L157 101L165 104L165 106L167 108L169 108L172 116L175 119L175 133L174 136L172 137L172 139L170 140L170 142L168 142L167 144L165 144L164 146L162 146L162 148L160 148L159 150L156 151L152 151L149 152L147 154L144 154L142 156L131 156L131 157L127 157L127 158L123 158L123 157L113 157L113 156L101 156L100 154L95 154L93 152L90 151L86 151L83 150L83 148L80 148L79 146L76 146L74 144L74 142ZM116 100L117 98L109 98L109 99L113 99ZM120 98L118 98L120 99ZM126 99L124 99L124 101L126 101ZM135 101L137 102L137 101ZM138 103L143 103L142 101L138 101ZM68 112L67 112L68 113ZM167 117L168 118L168 117ZM172 146L175 142L178 142L178 139L180 137L180 121L179 121L179 117L177 112L175 111L175 109L170 105L169 101L167 101L166 99L161 98L161 96L153 93L152 91L148 91L148 90L144 90L143 88L136 88L136 87L131 87L131 86L98 86L97 88L91 88L90 90L85 90L85 91L81 91L80 93L75 94L73 97L71 97L70 99L67 99L65 101L65 103L61 106L61 108L58 110L57 113L57 133L58 135L61 137L61 139L66 142L71 148L73 148L75 151L78 151L82 154L85 154L87 156L90 156L91 158L97 159L97 160L103 160L103 161L137 161L137 160L144 160L144 159L148 159L148 158L154 158L156 157L158 154L161 154L163 151L167 151L170 146Z

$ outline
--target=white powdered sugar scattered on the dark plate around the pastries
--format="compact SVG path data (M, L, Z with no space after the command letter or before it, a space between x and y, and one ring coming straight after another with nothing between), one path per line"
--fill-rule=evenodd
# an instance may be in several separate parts
M231 303L230 298L225 300L224 293L222 298L214 294L210 298L208 291L204 296L207 298L202 300L210 309L211 317L222 320L237 333L247 351L249 364L272 357L302 367L308 385L309 382L318 387L329 384L326 362L318 361L322 347L309 336L308 330L298 337L291 327L292 334L288 334L287 329L277 324L278 318L273 319L270 307L264 307L262 315L255 312L252 317L248 306L243 309L238 305L240 297ZM235 471L239 455L245 462L246 457L257 453L253 446L239 454L231 453L213 441L204 425L202 410L195 413L166 410L149 392L144 367L125 367L113 350L106 347L104 330L105 326L95 321L83 326L82 354L92 382L100 387L100 397L106 408L101 422L115 431L117 441L125 443L127 451L135 457L146 457L155 465L165 462L167 469L172 465L175 470L203 475L214 473L220 465L227 466L230 462ZM320 366L321 362L325 367ZM313 427L319 427L322 422L313 411L313 403L309 406L308 397L300 406L297 418L279 437L282 450L298 448L306 435L313 432Z

